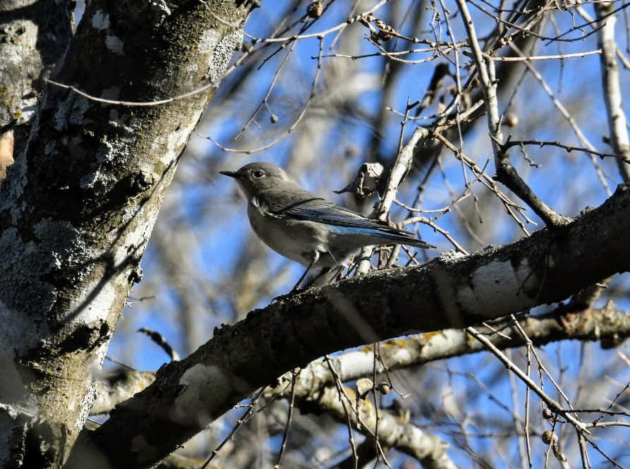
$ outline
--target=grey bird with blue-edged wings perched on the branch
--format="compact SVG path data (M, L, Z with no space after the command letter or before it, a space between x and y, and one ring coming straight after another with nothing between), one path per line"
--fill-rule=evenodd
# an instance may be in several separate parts
M219 173L234 178L246 196L250 225L256 235L272 250L306 266L291 291L298 289L313 267L321 267L321 275L365 246L435 248L408 231L363 217L301 188L274 164L254 162L237 171Z

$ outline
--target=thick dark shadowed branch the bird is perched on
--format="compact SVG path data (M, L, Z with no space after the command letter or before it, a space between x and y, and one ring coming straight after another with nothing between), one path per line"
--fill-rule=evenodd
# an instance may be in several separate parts
M444 254L307 291L250 312L181 362L164 365L75 446L72 468L140 467L174 451L258 386L325 353L411 331L464 327L553 303L630 268L630 188L567 226L473 255ZM579 264L576 263L579 259ZM168 431L164 431L168 429Z

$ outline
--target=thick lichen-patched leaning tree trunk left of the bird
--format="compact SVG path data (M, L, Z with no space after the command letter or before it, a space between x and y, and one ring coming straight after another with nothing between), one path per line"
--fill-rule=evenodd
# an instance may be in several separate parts
M134 102L216 86L248 11L231 1L90 1L53 78ZM4 467L57 467L67 456L93 398L91 371L211 95L129 107L49 86L0 193Z

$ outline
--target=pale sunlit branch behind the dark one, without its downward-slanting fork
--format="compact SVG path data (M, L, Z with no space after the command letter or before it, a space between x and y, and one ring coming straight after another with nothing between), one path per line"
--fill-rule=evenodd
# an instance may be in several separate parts
M563 312L564 309L564 306L561 306L555 312L519 320L521 328L534 346L579 340L601 341L602 347L609 348L630 337L630 314L614 309L612 303L602 309L581 312ZM477 329L491 335L492 343L498 348L503 350L526 345L525 339L516 330L511 319L492 324L492 327L502 331L502 334L492 334L492 330L487 327ZM376 372L400 370L485 350L481 343L471 341L470 335L464 329L444 329L439 332L417 334L406 339L392 339L381 343ZM337 370L341 382L349 382L372 376L374 372L372 353L372 346L365 346L361 351L342 353L328 360ZM97 382L97 398L92 406L92 414L109 413L114 406L145 389L154 379L155 372L121 371ZM284 374L278 379L277 387L265 392L271 395L281 394L287 380L290 379L291 372ZM332 383L334 376L329 365L322 360L314 360L300 370L296 382L296 395L315 394L317 389Z

